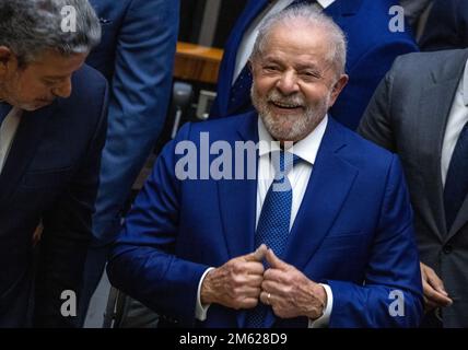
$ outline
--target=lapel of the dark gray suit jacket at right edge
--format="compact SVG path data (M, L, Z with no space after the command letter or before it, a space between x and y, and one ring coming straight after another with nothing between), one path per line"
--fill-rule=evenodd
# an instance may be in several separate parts
M441 241L446 237L444 189L441 175L442 147L454 96L465 68L466 56L464 54L463 59L456 65L444 66L432 72L433 84L423 91L418 113L421 116L421 125L426 126L424 138L420 142L422 150L425 150L421 158L421 168L424 172L422 177L432 211L432 215L429 214L428 219L431 222L434 218L432 224L436 225L435 231ZM455 224L453 229L455 229Z

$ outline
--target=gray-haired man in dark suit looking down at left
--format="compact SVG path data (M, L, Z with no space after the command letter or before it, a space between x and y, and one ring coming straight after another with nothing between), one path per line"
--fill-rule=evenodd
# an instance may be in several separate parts
M77 325L107 114L83 63L100 37L87 1L0 2L0 327Z

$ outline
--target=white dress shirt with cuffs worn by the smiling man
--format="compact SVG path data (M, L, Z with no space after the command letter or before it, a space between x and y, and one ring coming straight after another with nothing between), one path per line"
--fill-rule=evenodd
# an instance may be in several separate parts
M291 207L291 220L290 220L290 230L294 224L297 211L301 207L302 199L304 198L305 190L307 188L308 180L311 178L313 165L317 156L318 148L320 147L321 139L324 137L325 130L328 124L328 116L321 120L321 122L311 132L305 139L295 143L288 151L299 155L303 161L299 162L288 174L288 179L291 183L292 188L292 207ZM259 161L258 161L258 173L257 173L257 211L256 211L256 226L260 218L261 208L265 202L268 189L273 183L274 178L274 167L271 164L269 154L273 151L279 151L280 147L278 142L271 138L270 133L267 131L261 118L258 118L258 139L259 139ZM196 307L196 318L199 320L204 320L207 318L207 312L209 305L201 305L200 292L201 284L204 277L212 268L208 269L200 279L198 284L198 295L197 295L197 307ZM328 326L331 308L334 305L334 295L329 285L321 284L327 293L327 305L324 310L324 315L321 315L316 320L309 320L309 328L318 328Z

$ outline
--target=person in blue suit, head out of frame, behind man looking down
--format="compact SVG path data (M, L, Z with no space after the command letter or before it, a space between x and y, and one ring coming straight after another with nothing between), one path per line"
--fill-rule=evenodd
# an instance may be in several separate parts
M103 37L86 63L109 83L107 140L93 217L80 317L103 275L131 186L166 119L178 32L178 0L91 0Z

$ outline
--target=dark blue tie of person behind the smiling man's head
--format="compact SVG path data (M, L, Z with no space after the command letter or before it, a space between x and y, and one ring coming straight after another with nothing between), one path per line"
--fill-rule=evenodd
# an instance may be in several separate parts
M316 0L294 0L285 9L301 5L303 3L314 3ZM248 65L245 65L234 84L231 86L230 104L227 114L242 114L247 112L250 107L250 86L251 86L251 71Z

